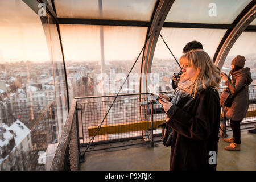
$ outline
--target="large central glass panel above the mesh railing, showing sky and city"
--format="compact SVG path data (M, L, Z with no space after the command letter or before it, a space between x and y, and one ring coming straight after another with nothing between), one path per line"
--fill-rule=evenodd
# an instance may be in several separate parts
M61 24L60 31L67 64L69 98L72 99L77 96L102 95L102 69L106 74L105 79L109 80L104 82L104 93L117 93L122 78L126 77L143 47L147 28ZM101 59L101 55L104 59ZM105 60L103 67L101 60ZM141 71L139 61L134 73ZM138 80L139 77L136 77ZM111 83L116 84L115 89L110 88ZM139 86L131 93L139 92L138 89ZM127 93L128 90L125 90L124 93Z

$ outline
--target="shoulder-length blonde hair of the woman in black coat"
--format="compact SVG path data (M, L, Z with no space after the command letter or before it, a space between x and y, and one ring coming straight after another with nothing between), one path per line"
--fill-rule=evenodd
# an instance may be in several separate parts
M204 89L208 86L218 92L221 81L220 71L213 64L208 53L204 52L202 49L189 51L180 57L180 64L188 64L189 67L196 70L195 76L190 79L191 83L185 87L183 93L188 92L195 98L196 93L199 91L200 84L203 84ZM180 81L182 80L184 80L183 75L181 75L180 78ZM206 85L208 80L209 82Z

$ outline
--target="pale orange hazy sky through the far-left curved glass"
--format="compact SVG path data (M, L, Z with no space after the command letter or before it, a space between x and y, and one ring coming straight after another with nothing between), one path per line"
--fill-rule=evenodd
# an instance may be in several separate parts
M0 1L0 9L0 56L3 60L49 60L39 16L19 0Z

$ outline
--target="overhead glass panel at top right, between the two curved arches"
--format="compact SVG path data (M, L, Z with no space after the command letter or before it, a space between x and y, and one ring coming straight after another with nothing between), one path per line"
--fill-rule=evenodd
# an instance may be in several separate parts
M231 24L250 0L177 0L166 22Z

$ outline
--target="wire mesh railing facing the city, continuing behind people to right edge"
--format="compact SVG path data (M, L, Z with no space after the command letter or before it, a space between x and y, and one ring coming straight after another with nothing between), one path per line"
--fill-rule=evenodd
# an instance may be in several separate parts
M223 88L220 89L220 93ZM242 123L254 122L255 117L255 85L249 87L250 105L247 117ZM167 96L172 97L174 92L169 92ZM80 97L79 106L81 108L81 119L79 121L80 144L86 146L96 133L98 125L109 110L115 96L94 96ZM94 138L92 145L130 140L133 138L143 138L145 140L153 135L161 135L162 129L157 128L156 123L166 120L166 114L162 111L162 105L152 102L152 98L147 93L141 94L121 94L115 101L112 109L106 117L101 129ZM152 113L151 113L152 107ZM223 108L221 108L223 110ZM151 117L153 125L151 125ZM229 122L226 124L229 126Z

